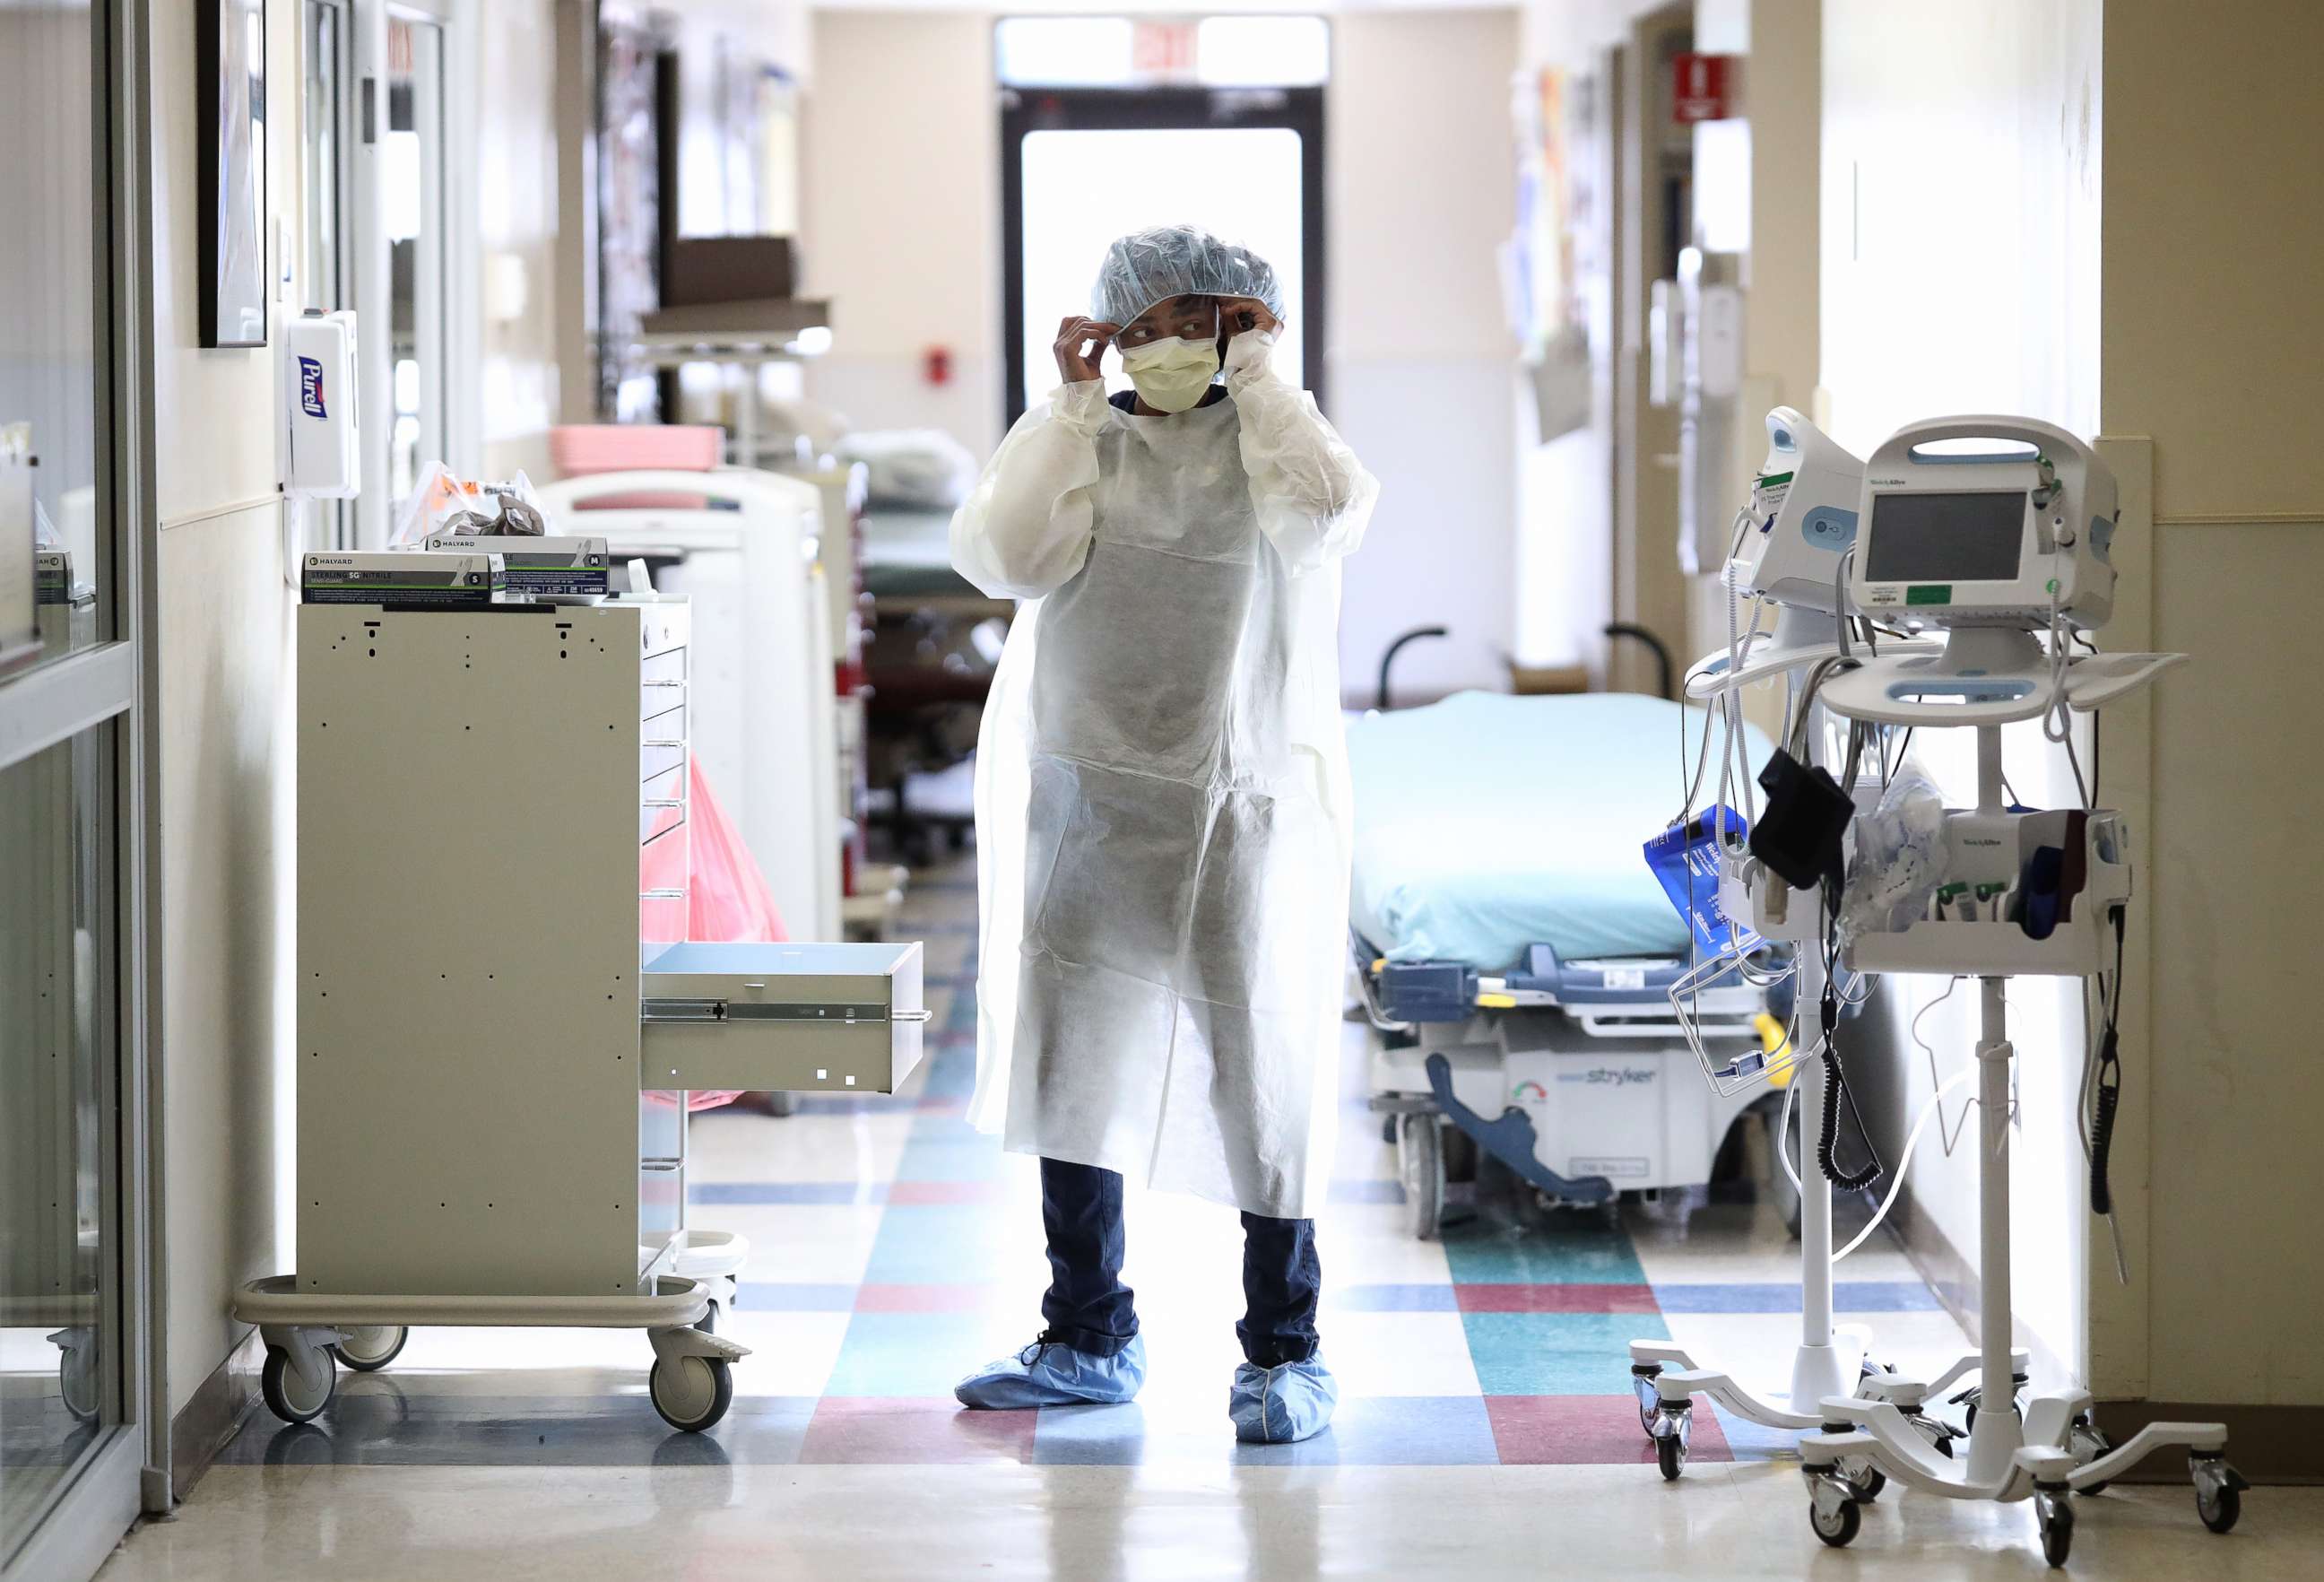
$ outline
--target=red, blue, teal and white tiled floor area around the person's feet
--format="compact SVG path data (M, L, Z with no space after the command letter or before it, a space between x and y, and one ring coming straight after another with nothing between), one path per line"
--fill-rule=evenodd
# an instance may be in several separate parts
M1239 1229L1229 1210L1132 1196L1127 1280L1150 1373L1120 1408L962 1412L953 1382L1039 1326L1039 1192L962 1110L974 1083L974 871L923 873L899 936L927 943L930 1055L897 1096L809 1096L790 1117L746 1099L695 1117L693 1220L751 1238L727 1333L737 1401L709 1436L672 1436L644 1396L644 1338L618 1331L418 1331L393 1368L342 1373L311 1426L256 1415L225 1464L258 1466L1520 1466L1641 1464L1627 1343L1678 1338L1762 1389L1796 1336L1796 1254L1752 1203L1520 1213L1487 1189L1441 1243L1401 1220L1394 1150L1348 1110L1318 1243L1329 1433L1241 1447L1225 1419L1239 1359ZM1843 1268L1843 1319L1880 1357L1941 1366L1964 1345L1894 1247ZM1694 1461L1785 1454L1727 1415Z

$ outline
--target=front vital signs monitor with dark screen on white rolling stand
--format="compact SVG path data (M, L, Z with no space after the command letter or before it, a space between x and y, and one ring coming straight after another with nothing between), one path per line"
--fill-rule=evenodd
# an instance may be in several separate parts
M1987 448L1959 448L1973 441ZM2013 806L2001 727L2040 720L2071 753L2073 713L2129 697L2187 657L2075 650L2075 634L2113 613L2115 523L2106 465L2047 423L1931 418L1892 434L1866 462L1850 599L1866 613L1943 630L1945 648L1864 655L1824 683L1822 699L1868 725L1975 729L1978 804L1945 811L1945 876L1966 892L1957 887L1948 901L1941 890L1922 918L1859 932L1848 964L1978 980L1978 1373L1987 1410L1968 1424L1968 1454L1954 1459L1931 1450L1894 1401L1827 1396L1824 1424L1799 1452L1808 1519L1836 1547L1857 1536L1878 1477L1945 1498L2031 1498L2052 1566L2064 1566L2073 1545L2071 1496L2099 1491L2154 1450L2187 1452L2196 1515L2215 1533L2236 1526L2250 1487L2226 1461L2224 1424L2150 1422L2108 1447L2087 1389L2033 1396L2020 1417L2015 1392L1996 1385L2022 1373L2010 1310L2008 980L2115 971L2131 901L2122 818ZM2047 646L2033 637L2043 630ZM2103 1162L2103 1148L2092 1150ZM1859 1470L1866 1464L1871 1470Z

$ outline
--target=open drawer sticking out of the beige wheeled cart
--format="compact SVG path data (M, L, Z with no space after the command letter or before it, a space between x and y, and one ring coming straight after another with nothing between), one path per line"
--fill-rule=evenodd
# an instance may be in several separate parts
M892 1094L920 1064L920 945L667 945L639 1087Z

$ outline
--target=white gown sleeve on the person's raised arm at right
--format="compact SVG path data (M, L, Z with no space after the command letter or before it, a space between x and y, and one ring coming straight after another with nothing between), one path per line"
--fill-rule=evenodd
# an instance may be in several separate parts
M1243 425L1260 532L1297 576L1355 553L1380 483L1325 423L1315 397L1276 376L1274 348L1264 330L1227 341L1227 393Z

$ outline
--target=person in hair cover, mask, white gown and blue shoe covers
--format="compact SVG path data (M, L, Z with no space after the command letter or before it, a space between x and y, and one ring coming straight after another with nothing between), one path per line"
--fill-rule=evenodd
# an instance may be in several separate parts
M1339 560L1378 483L1271 367L1281 325L1262 258L1122 237L1057 328L1062 386L953 518L960 571L1025 602L976 753L971 1117L1041 1155L1053 1273L1039 1340L967 1405L1136 1394L1125 1175L1243 1210L1236 1433L1306 1438L1339 1394L1308 1215L1348 934Z

